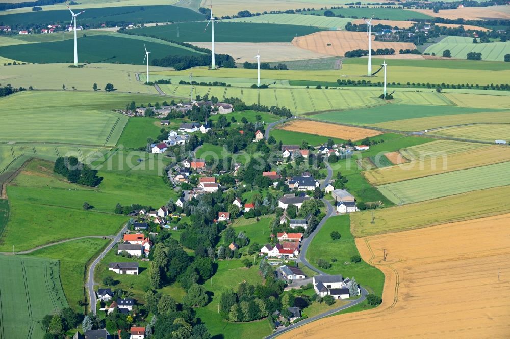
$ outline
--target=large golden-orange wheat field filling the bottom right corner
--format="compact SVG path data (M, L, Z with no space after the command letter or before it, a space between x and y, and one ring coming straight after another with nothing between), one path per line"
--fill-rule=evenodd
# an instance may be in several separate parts
M505 214L358 238L363 259L385 273L382 304L323 318L280 337L507 338L509 223Z

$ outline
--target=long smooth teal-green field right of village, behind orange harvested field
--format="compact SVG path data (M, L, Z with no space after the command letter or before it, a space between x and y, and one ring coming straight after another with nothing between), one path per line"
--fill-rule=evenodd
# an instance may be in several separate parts
M493 110L493 109L491 109ZM394 120L441 117L444 115L462 115L488 111L483 108L464 108L456 106L428 106L386 104L377 107L361 108L344 111L332 111L310 116L313 119L340 122L355 125L374 125ZM402 124L402 128L405 128ZM398 126L396 126L398 127Z

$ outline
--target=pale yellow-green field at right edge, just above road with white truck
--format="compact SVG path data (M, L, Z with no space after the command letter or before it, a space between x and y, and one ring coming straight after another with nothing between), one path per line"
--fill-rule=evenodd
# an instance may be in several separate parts
M510 124L476 124L446 127L429 134L494 143L494 140L510 140Z

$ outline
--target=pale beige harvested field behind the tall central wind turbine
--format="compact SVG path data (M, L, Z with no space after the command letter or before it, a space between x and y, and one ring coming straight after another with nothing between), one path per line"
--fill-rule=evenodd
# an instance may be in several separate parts
M210 42L191 42L191 44L211 48ZM317 59L327 56L296 47L290 42L216 42L214 48L219 54L232 55L238 63L245 61L252 63L255 60L253 55L257 55L257 51L260 52L261 62Z

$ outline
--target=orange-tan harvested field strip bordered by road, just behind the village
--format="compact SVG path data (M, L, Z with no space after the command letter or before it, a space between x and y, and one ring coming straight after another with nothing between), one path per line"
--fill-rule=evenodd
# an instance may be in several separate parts
M333 138L339 138L342 140L361 140L368 137L382 134L379 131L359 128L342 126L337 124L328 124L309 120L298 120L279 127L286 131L308 133L314 135L329 136Z

